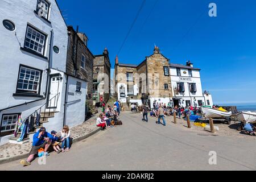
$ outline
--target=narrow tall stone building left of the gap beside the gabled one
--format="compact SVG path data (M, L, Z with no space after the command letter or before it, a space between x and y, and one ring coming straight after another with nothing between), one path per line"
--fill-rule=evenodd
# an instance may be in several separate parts
M104 49L102 55L95 55L93 60L93 100L108 102L110 98L110 60L109 51Z

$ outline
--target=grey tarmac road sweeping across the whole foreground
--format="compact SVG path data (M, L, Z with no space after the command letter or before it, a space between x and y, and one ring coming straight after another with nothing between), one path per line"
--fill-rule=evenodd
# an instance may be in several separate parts
M19 161L0 170L255 170L254 139L201 136L189 129L141 121L141 114L122 113L123 126L101 131L75 143L71 151L51 153L46 165L37 160L22 167ZM209 151L217 165L209 165Z

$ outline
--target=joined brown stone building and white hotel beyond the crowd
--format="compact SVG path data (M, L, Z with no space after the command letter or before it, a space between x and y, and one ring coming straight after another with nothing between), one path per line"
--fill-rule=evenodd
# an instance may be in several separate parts
M203 93L200 69L169 63L158 47L139 65L119 63L115 58L114 88L122 103L138 102L152 108L154 101L177 106L212 106L212 96Z

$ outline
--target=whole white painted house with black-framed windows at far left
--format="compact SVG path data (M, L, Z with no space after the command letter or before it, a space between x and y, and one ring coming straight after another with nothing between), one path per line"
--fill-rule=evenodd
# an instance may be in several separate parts
M0 14L0 145L15 143L19 116L41 116L26 140L42 126L84 122L87 82L66 73L69 35L57 2L3 0Z

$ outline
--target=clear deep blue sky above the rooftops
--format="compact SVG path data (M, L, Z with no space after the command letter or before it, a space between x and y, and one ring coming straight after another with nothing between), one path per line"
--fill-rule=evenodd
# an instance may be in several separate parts
M201 68L214 103L256 103L256 1L146 0L122 49L143 0L57 2L95 55L108 48L112 68L118 52L119 62L139 64L156 44L171 63ZM208 15L211 2L217 17Z

